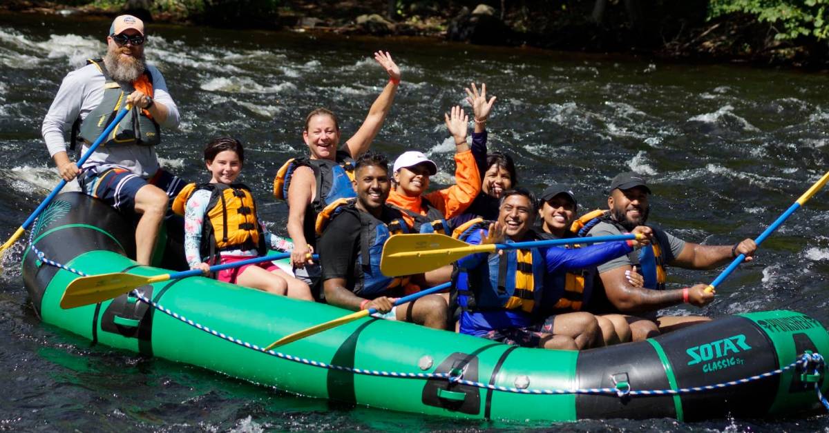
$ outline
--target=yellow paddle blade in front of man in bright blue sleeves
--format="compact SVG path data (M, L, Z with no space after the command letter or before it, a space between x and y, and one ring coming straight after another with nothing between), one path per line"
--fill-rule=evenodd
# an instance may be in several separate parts
M386 277L429 272L469 254L495 249L495 244L470 245L444 234L395 234L383 245L380 271Z

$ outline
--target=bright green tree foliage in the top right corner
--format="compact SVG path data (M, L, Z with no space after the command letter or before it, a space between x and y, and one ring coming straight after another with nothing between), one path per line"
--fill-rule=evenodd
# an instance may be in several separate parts
M829 38L829 0L711 0L708 17L747 13L771 23L778 40L805 36L818 41Z

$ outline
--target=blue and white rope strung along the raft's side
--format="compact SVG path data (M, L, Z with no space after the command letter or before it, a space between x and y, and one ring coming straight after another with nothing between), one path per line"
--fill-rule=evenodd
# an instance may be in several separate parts
M30 237L29 246L32 248L37 255L37 257L48 265L54 267L60 267L61 269L72 272L76 275L80 275L81 277L87 277L85 272L81 272L72 267L67 267L59 262L55 262L46 258L46 255L38 250L34 244L32 243L32 238ZM233 336L228 334L224 334L217 330L213 330L210 327L205 325L201 325L200 323L187 319L184 315L180 315L175 311L172 311L156 301L148 299L146 296L143 296L142 293L138 292L138 290L133 290L129 292L130 295L137 298L138 301L142 301L143 303L147 304L148 306L152 306L154 309L161 311L162 313L171 316L174 319L181 320L182 322L190 325L197 330L202 330L208 334L211 334L215 337L220 339L224 339L226 341L230 341L230 343L238 344L242 347L247 349L252 349L257 352L263 354L269 354L276 358L285 359L287 361L291 361L294 363L302 363L305 365L310 365L313 367L318 368L326 368L329 370L337 370L347 373L354 373L354 374L361 374L366 376L381 376L381 377L390 377L390 378L415 378L415 379L445 379L448 382L459 383L462 385L467 385L470 387L478 387L483 389L489 389L492 391L500 391L500 392L512 392L516 394L536 394L536 395L565 395L565 394L592 394L592 395L617 395L618 397L655 397L655 396L676 396L676 395L683 395L683 394L691 394L695 392L705 392L705 391L715 391L717 389L722 389L725 387L733 387L736 385L741 385L744 383L754 382L757 380L762 380L764 378L771 378L773 376L778 376L779 374L783 374L792 368L799 367L799 371L802 373L807 373L811 370L811 375L813 377L813 381L815 382L815 389L817 390L817 398L823 404L823 407L829 411L829 401L827 398L823 396L821 389L820 389L820 382L823 374L824 368L824 358L821 354L817 353L809 353L806 352L804 354L798 355L792 363L784 366L783 368L777 368L775 370L755 374L754 376L750 376L749 378L740 378L736 380L732 380L729 382L720 382L715 383L713 385L704 385L701 387L683 387L678 389L653 389L653 390L635 390L631 389L630 384L628 382L619 382L616 387L604 387L604 388L552 388L552 389L521 389L517 387L504 387L501 385L492 385L490 383L485 382L476 382L471 381L463 378L463 372L459 374L453 373L400 373L400 372L387 372L383 370L369 370L366 368L356 368L356 367L345 367L342 365L335 365L330 363L323 363L321 361L315 361L313 359L302 358L298 356L293 356L290 354L283 354L282 352L277 352L275 350L265 350L263 347L259 347L257 344L252 344L246 342L242 339L237 339Z

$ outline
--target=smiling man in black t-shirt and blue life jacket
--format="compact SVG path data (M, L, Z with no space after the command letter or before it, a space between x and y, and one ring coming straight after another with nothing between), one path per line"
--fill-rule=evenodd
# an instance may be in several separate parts
M371 152L361 156L353 182L356 199L327 213L332 216L318 242L326 301L348 310L374 308L376 317L443 329L448 305L442 296L424 296L398 308L390 296L402 291L404 281L380 272L390 227L405 227L400 212L385 204L391 185L388 161ZM416 277L420 283L430 282L423 274Z

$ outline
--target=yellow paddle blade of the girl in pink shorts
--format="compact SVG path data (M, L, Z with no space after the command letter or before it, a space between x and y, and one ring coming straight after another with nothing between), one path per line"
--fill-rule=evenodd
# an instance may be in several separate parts
M61 308L66 310L76 306L97 304L121 296L135 287L166 281L169 277L169 274L142 277L124 272L80 277L70 282L69 286L66 287L61 297Z

